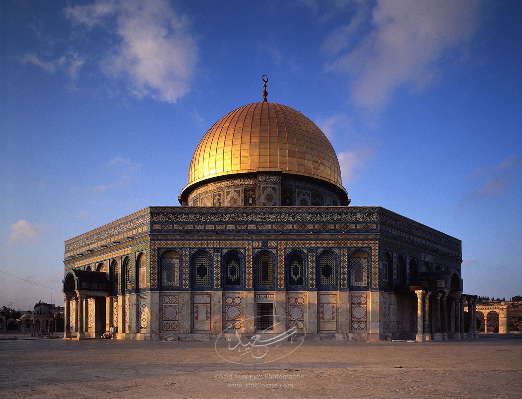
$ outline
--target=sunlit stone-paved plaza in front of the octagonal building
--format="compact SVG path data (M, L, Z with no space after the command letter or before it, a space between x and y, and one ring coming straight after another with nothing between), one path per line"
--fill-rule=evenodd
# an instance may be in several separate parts
M218 347L228 351L227 343ZM247 366L223 360L213 342L0 341L0 397L522 396L522 336L423 344L305 341L292 350L288 342L270 347L270 356L289 355Z

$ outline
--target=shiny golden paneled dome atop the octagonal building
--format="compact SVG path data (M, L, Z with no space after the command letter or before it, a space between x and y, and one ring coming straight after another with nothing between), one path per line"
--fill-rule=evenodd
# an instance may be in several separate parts
M321 179L346 193L325 134L301 112L275 102L244 105L217 121L194 152L183 192L206 179L262 171Z

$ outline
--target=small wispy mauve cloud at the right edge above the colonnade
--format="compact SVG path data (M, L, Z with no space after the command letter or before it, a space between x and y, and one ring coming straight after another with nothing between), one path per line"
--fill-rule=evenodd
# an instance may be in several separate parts
M477 189L462 196L459 210L482 198L500 196L505 193L507 187L511 184L511 172L519 165L522 165L522 157L516 158L510 155L491 169L477 168L473 170L467 177L468 181L474 181L479 178L486 178L487 180L483 181Z

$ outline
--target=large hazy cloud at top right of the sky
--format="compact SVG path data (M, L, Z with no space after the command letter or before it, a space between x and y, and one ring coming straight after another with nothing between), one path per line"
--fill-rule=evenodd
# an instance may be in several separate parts
M477 31L476 0L377 0L359 4L351 21L323 44L327 71L346 75L355 105L385 107L400 86L420 89L441 72L441 61Z

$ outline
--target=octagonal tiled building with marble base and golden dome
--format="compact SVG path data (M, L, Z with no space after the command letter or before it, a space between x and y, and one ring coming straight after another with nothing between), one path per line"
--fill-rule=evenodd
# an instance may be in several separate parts
M461 241L349 206L327 137L287 105L264 98L217 121L178 199L65 242L65 338L110 325L146 340L292 327L337 341L476 337Z

